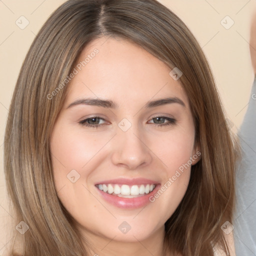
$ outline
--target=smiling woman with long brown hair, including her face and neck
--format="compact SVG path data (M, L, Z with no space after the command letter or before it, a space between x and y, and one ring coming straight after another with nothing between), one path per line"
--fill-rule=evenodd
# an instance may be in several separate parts
M233 142L174 13L65 2L27 53L6 126L20 254L234 255Z

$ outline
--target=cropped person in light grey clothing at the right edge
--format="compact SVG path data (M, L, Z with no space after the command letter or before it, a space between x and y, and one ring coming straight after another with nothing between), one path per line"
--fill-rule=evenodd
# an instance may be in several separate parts
M256 12L251 19L250 55L256 74ZM237 206L234 242L237 256L256 255L256 79L248 96L248 107L238 137L242 159L236 170Z

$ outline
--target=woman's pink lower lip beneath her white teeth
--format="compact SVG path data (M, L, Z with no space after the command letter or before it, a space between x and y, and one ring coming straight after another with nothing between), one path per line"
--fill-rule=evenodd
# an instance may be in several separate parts
M117 206L119 208L125 208L125 209L134 209L134 208L140 208L145 206L150 202L149 197L152 196L155 191L157 191L160 184L157 184L155 188L148 194L145 194L143 196L134 197L134 198L124 198L119 197L117 195L112 195L106 192L103 192L102 190L96 189L99 191L100 195L103 197L104 200L111 203L114 206Z

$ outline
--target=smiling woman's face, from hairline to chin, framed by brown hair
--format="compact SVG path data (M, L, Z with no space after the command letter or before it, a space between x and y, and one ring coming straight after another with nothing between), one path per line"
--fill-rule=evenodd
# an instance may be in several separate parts
M83 234L146 239L184 196L199 154L189 95L170 71L120 39L80 54L50 149L59 199Z

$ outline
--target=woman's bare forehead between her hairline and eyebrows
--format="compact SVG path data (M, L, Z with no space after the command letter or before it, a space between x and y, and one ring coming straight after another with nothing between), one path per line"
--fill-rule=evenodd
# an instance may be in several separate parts
M68 102L82 96L117 103L177 96L188 103L179 81L169 75L171 69L127 40L101 37L91 41L80 53L75 69L68 84Z

